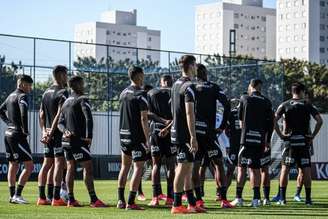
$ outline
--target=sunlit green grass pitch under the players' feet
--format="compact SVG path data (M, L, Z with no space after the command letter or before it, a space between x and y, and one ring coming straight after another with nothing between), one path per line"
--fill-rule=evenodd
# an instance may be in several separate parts
M24 189L24 197L31 202L29 205L13 205L8 203L8 189L5 182L0 183L0 218L172 218L170 210L161 206L160 208L149 208L147 203L151 197L151 183L144 183L144 192L148 200L141 205L146 207L145 211L125 211L118 210L114 206L116 204L116 181L99 181L95 182L97 194L100 199L110 204L106 209L92 209L90 207L83 208L66 208L51 206L36 206L35 201L38 195L36 182L30 182ZM288 204L286 206L272 205L270 207L260 207L253 209L250 207L242 207L236 209L220 209L218 203L214 201L215 186L213 181L206 182L206 206L209 208L207 214L182 215L174 216L174 218L328 218L328 187L325 181L313 182L313 201L312 207L307 207L304 203L295 203L292 201L292 195L295 191L295 182L290 182L288 189ZM165 186L165 185L163 185ZM229 190L229 197L232 199L235 194L235 184ZM165 188L165 187L163 187ZM164 190L164 189L163 189ZM277 190L276 180L272 183L272 192ZM165 190L164 190L165 191ZM251 190L249 184L246 184L244 190L244 198L246 203L250 202ZM81 181L75 184L76 198L87 205L89 198L86 189ZM302 194L304 196L304 194ZM163 204L163 203L161 203Z

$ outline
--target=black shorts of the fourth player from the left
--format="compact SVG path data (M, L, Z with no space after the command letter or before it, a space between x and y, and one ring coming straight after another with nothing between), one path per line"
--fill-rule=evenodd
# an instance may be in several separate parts
M147 153L144 143L136 143L134 146L127 146L121 144L121 151L132 157L133 161L146 161L149 159L149 153Z

